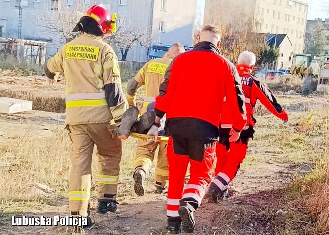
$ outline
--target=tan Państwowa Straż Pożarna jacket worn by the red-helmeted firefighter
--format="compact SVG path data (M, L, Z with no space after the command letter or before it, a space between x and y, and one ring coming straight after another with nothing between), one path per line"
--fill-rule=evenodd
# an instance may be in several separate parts
M66 78L66 124L111 122L126 110L118 58L102 37L83 34L66 43L47 62Z

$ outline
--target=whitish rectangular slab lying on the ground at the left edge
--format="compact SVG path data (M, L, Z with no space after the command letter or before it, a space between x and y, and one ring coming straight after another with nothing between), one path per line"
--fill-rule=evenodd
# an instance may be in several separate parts
M13 114L32 110L32 101L0 97L0 113Z

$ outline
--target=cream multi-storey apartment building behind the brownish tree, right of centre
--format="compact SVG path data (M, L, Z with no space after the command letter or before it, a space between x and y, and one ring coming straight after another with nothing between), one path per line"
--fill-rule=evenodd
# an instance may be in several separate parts
M298 54L305 47L307 11L306 3L295 0L206 0L205 23L217 19L225 24L235 17L252 17L254 32L287 34L293 53Z

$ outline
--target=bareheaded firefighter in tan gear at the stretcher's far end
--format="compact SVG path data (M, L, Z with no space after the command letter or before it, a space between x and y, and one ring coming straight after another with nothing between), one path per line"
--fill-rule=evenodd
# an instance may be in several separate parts
M180 43L174 43L165 53L163 58L147 62L138 72L138 74L128 83L126 98L129 106L136 105L136 91L145 85L145 98L141 114L146 112L149 103L155 101L159 94L159 86L164 81L164 72L173 58L184 53L184 46ZM135 192L139 196L144 195L144 180L149 173L154 158L154 152L159 146L158 162L155 168L155 186L157 193L164 192L168 180L168 161L166 155L166 142L148 143L142 140L137 141L138 147L136 156L133 160Z

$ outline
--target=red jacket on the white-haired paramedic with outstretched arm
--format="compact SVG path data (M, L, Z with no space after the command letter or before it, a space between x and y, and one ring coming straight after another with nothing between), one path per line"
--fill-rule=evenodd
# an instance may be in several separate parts
M237 69L241 77L247 111L247 123L243 128L244 130L249 129L250 127L253 128L255 126L256 119L254 118L254 107L257 100L260 100L266 109L268 109L268 111L270 111L276 117L282 120L288 119L288 115L280 106L280 104L277 103L272 91L263 81L252 75L251 67L247 65L237 65ZM225 102L223 118L220 125L221 128L230 128L230 126L233 124L231 122L229 106L230 104Z

